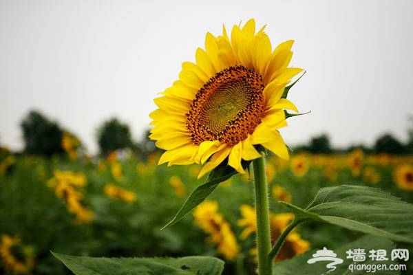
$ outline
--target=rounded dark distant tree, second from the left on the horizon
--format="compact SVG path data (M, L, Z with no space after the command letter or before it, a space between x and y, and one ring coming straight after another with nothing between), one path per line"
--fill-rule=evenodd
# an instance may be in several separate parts
M97 139L103 155L117 149L134 148L129 126L116 118L111 118L98 127Z

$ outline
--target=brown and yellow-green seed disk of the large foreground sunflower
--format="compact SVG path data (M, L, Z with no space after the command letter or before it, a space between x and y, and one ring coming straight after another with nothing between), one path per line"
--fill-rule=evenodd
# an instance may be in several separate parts
M193 144L219 140L234 145L253 133L264 113L262 77L242 65L215 74L198 91L187 113Z

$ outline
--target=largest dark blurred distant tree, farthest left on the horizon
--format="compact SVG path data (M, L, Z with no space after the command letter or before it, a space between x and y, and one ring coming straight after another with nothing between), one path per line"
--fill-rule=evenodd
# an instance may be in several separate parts
M30 111L20 126L23 131L25 153L45 156L63 153L63 130L57 122L48 120L39 111Z

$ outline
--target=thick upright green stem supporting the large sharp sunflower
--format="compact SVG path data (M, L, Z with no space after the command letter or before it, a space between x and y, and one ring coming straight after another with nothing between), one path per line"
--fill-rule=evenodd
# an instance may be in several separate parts
M270 209L265 171L265 152L253 161L255 184L255 211L257 212L258 272L260 275L273 274L273 261L269 261L271 250Z

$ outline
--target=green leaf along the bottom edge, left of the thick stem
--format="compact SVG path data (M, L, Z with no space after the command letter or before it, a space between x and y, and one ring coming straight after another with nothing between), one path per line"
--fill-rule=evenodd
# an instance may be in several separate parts
M218 275L224 261L209 256L183 258L94 258L69 256L52 252L75 275Z

